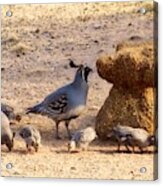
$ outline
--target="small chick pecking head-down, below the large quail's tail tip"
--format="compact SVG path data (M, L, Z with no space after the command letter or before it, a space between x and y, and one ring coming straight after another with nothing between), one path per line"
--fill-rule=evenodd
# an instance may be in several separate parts
M41 144L41 135L35 127L26 125L20 129L19 135L24 139L28 151L31 150L31 147L33 147L36 152L38 151Z

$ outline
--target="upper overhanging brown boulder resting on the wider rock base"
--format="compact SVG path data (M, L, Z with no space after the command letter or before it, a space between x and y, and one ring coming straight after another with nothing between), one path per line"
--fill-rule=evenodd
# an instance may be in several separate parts
M113 55L97 60L99 75L114 87L124 89L153 87L155 55L153 41L127 41L117 46Z

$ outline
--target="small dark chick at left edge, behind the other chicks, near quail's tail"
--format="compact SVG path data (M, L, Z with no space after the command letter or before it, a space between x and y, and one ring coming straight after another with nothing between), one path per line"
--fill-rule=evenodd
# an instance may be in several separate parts
M9 120L17 120L17 121L21 120L21 116L19 114L15 114L13 107L1 103L1 110L6 114Z

